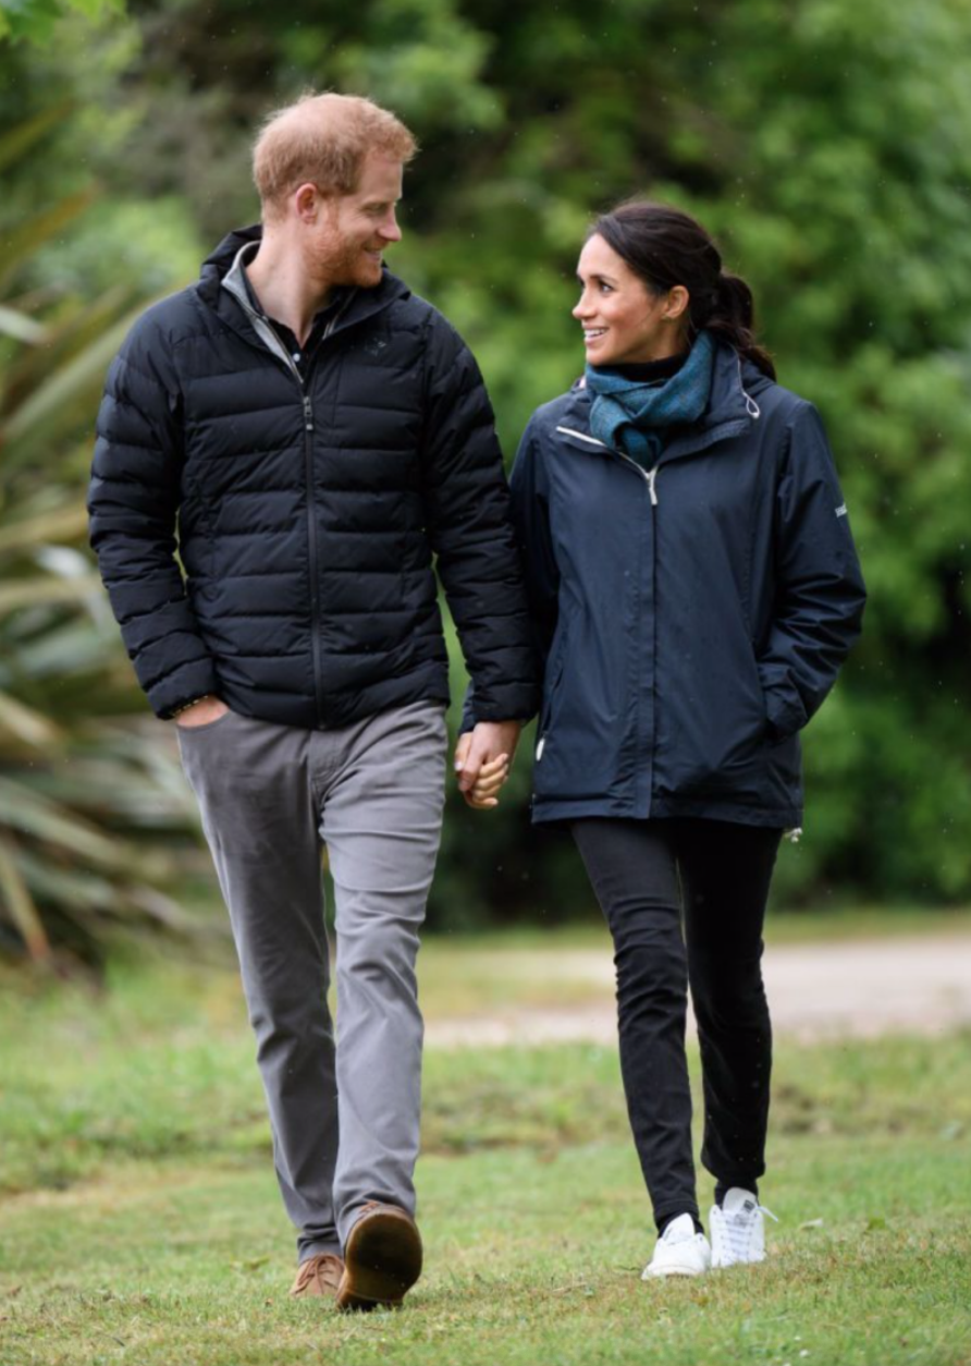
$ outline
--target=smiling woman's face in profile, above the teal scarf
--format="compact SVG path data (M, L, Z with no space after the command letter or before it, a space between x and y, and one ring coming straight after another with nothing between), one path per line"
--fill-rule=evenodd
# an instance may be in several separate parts
M662 361L686 350L683 285L651 294L598 235L580 251L576 275L583 292L574 317L583 328L590 365Z

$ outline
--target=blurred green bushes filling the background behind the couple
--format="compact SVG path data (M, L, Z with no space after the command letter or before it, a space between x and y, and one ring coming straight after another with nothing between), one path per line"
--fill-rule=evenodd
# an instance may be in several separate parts
M806 736L806 837L778 896L967 899L970 59L963 0L138 0L0 51L0 128L74 101L8 176L7 231L98 186L18 288L56 310L109 280L146 299L164 266L184 280L257 214L262 113L305 87L369 93L423 149L392 265L468 339L511 456L582 367L591 214L635 191L696 213L751 281L781 381L825 417L871 591ZM36 459L79 493L79 458ZM589 907L568 843L526 822L527 751L492 816L452 800L438 923Z

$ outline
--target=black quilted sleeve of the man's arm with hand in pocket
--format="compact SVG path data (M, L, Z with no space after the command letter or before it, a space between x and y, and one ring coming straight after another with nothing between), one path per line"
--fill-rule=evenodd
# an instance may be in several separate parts
M108 372L87 511L122 638L163 719L219 686L175 557L182 454L168 339L146 314Z

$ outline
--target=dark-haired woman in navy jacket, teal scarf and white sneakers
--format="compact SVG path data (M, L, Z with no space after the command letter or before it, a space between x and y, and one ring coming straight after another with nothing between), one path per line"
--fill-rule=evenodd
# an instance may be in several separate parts
M799 731L864 589L819 417L774 382L751 291L705 229L625 204L594 224L578 275L586 376L534 413L511 481L545 658L533 818L569 824L613 934L658 1231L645 1279L694 1276L765 1255L762 923L780 837L802 821ZM473 805L494 805L507 769L482 770Z

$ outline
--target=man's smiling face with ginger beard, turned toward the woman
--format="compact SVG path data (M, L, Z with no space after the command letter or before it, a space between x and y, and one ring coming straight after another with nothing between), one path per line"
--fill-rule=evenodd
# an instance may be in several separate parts
M395 206L402 198L403 164L370 152L358 189L324 201L307 240L307 264L328 284L373 290L381 283L381 257L402 240Z

